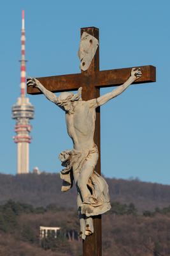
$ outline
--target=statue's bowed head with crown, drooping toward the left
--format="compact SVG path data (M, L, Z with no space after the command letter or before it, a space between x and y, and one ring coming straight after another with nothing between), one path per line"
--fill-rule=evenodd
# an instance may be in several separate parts
M71 109L71 103L75 100L81 100L81 90L82 87L78 89L78 93L74 94L73 92L62 92L60 93L57 104L62 106L66 111Z

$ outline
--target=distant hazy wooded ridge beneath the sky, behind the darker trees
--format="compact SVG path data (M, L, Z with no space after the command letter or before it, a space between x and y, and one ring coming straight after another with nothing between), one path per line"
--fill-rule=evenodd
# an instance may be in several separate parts
M111 202L133 203L139 211L170 205L170 186L139 180L106 179ZM62 193L59 173L0 174L0 204L9 199L38 206L76 207L75 186Z

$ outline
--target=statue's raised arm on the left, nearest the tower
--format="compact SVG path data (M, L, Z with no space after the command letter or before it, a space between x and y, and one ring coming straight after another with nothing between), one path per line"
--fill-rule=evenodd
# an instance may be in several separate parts
M52 101L53 103L57 104L57 96L46 90L45 86L43 86L43 84L41 84L38 79L34 78L34 77L28 77L27 78L27 85L28 86L32 86L32 87L35 87L35 88L38 88L46 97L46 99Z

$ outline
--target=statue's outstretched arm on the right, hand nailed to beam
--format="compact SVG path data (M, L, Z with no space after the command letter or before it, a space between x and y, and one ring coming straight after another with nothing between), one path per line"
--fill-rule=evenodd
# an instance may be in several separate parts
M97 108L98 106L101 106L108 102L108 100L117 97L118 95L120 95L120 93L124 92L124 90L127 89L130 84L132 84L136 79L141 77L141 75L141 68L132 68L131 76L124 84L118 86L118 88L113 90L112 92L106 93L103 96L98 97L97 99L89 100L90 107Z

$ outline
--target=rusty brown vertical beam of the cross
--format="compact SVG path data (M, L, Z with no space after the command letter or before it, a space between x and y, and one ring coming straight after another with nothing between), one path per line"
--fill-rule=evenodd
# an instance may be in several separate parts
M99 40L99 29L97 28L81 28L83 32L89 33ZM96 72L99 71L99 47L87 71L81 71L85 76L91 77L89 83L82 90L82 99L90 100L99 97L100 89L95 86ZM99 150L99 160L96 165L96 172L101 174L101 127L100 127L100 108L96 109L96 129L94 133L94 142ZM101 215L94 216L94 234L87 236L83 241L83 256L101 256L102 255L102 239L101 239Z

